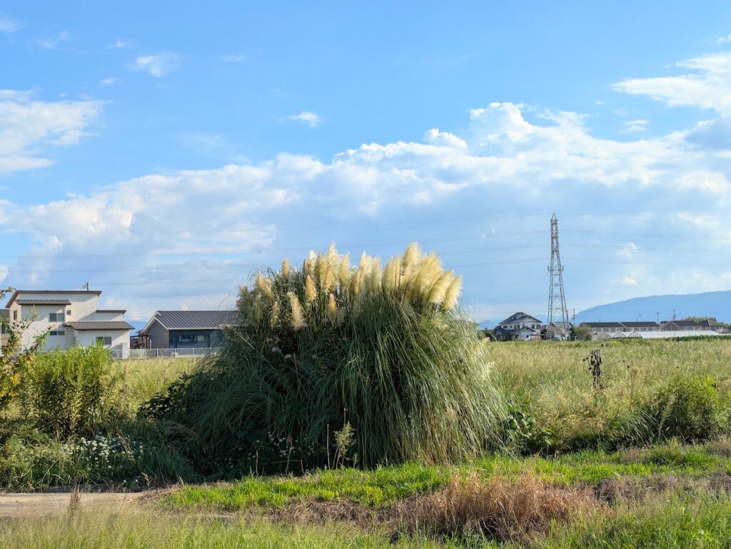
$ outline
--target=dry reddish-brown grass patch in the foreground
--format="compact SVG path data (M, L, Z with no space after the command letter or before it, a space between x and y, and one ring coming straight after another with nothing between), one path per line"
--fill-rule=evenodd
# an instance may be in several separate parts
M601 505L587 489L559 488L531 476L482 480L471 474L404 504L399 510L400 529L440 537L482 534L501 542L527 543L548 534L553 523Z

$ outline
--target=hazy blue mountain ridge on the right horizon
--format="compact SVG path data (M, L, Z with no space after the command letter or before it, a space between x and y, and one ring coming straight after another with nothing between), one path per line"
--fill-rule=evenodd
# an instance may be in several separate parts
M620 322L622 320L669 320L685 317L716 317L719 322L731 322L731 291L702 294L651 295L632 298L581 311L576 322Z

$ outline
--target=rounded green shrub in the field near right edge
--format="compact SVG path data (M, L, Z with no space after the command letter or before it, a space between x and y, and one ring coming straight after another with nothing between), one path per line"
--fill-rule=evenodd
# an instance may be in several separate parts
M658 440L702 442L719 433L724 409L713 378L676 376L640 406L640 414Z

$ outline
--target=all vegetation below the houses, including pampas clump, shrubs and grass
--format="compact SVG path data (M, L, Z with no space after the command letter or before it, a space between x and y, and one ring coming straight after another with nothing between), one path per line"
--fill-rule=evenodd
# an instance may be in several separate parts
M262 274L218 357L6 359L2 490L164 489L0 548L731 547L730 340L487 343L404 257Z

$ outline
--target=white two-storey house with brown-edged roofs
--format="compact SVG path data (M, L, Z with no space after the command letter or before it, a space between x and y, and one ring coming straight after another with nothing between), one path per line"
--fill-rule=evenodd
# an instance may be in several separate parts
M21 346L50 330L42 350L86 347L100 343L113 355L129 354L129 330L122 310L99 309L98 290L16 290L6 308L11 325L31 320Z

